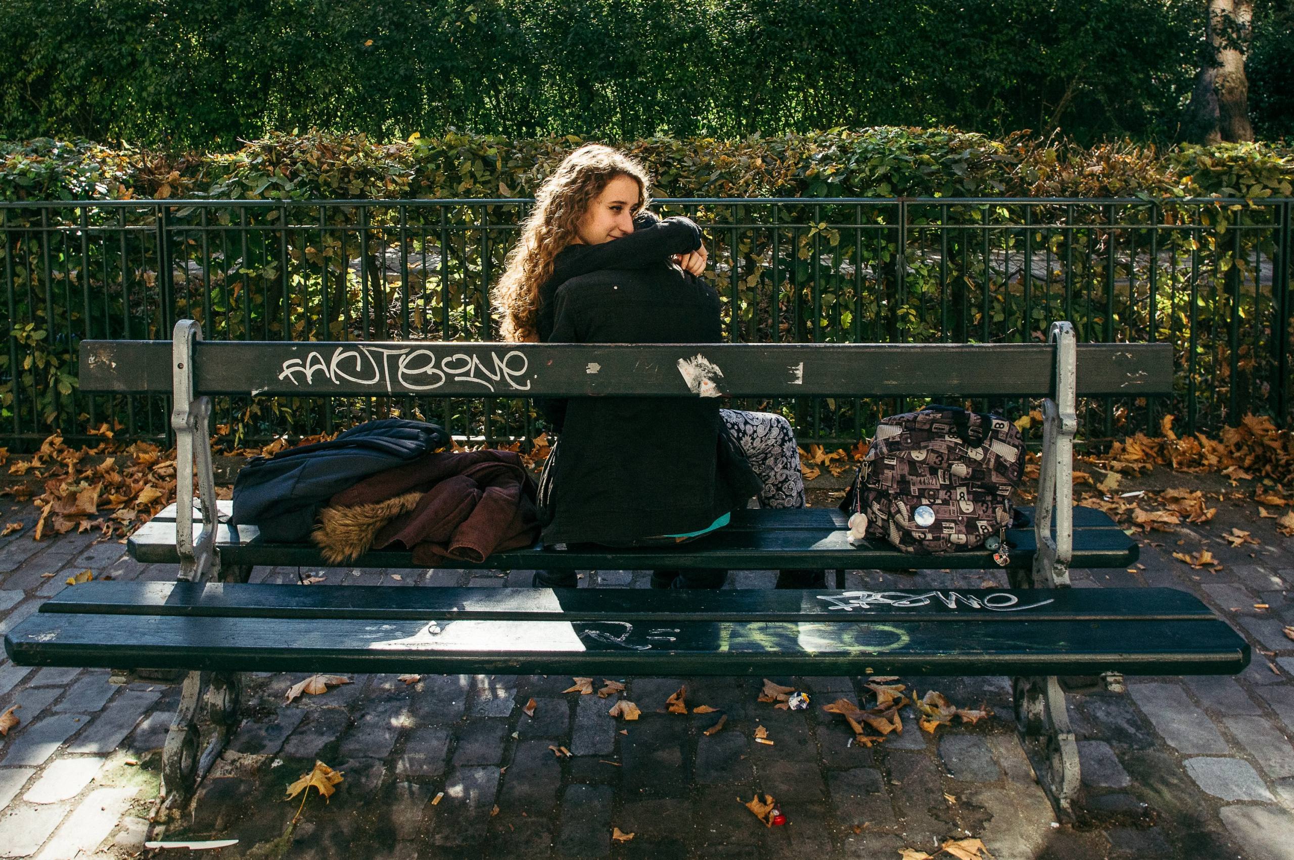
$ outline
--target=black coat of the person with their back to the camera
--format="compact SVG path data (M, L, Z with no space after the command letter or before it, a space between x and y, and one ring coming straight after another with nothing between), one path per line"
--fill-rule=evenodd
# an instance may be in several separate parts
M567 281L553 343L721 343L719 299L663 260ZM734 458L712 397L572 397L540 488L545 543L621 543L709 526L758 478Z

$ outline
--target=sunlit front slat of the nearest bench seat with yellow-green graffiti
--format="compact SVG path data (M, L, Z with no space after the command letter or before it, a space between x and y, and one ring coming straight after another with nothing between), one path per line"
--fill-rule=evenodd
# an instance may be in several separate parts
M1229 674L1244 640L1209 621L616 622L182 618L38 612L14 663L220 671L740 675ZM609 704L608 704L609 707Z

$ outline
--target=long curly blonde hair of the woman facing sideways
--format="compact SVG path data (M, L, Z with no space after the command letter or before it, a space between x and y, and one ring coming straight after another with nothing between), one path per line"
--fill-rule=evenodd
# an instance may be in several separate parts
M567 155L534 194L534 208L521 224L521 238L509 255L503 277L493 290L502 310L503 340L537 335L540 286L553 277L553 260L580 238L580 221L589 206L617 176L638 182L634 215L651 200L651 177L641 162L609 146L589 144Z

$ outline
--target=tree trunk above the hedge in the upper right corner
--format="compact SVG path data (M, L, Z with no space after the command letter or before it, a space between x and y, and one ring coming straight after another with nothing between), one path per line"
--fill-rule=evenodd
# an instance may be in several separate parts
M1207 0L1206 39L1211 61L1196 76L1181 133L1198 144L1251 141L1245 54L1253 31L1253 0Z

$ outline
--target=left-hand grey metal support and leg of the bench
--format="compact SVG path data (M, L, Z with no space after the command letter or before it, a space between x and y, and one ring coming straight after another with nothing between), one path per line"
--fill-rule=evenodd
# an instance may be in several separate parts
M194 344L202 340L202 327L193 319L175 323L172 380L175 403L171 427L176 436L176 551L180 555L179 579L220 582L220 555L216 551L216 481L211 468L211 398L194 397ZM198 472L198 502L202 533L193 537L193 472ZM238 577L242 572L232 568ZM243 575L242 581L246 581ZM238 728L242 683L234 672L192 671L184 679L180 707L167 732L162 750L162 777L166 806L188 801L220 750ZM202 738L208 732L203 745Z

